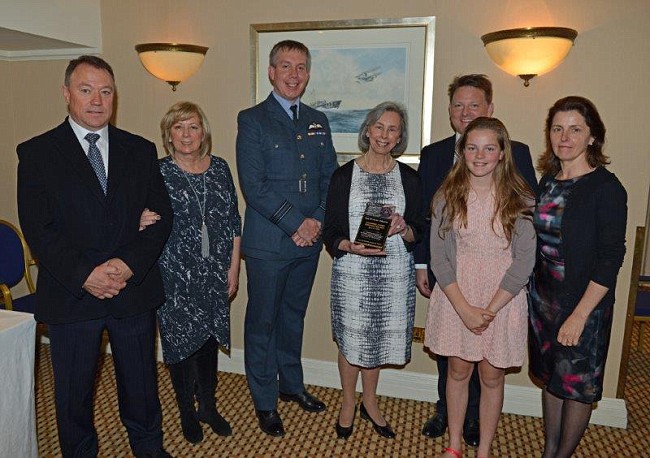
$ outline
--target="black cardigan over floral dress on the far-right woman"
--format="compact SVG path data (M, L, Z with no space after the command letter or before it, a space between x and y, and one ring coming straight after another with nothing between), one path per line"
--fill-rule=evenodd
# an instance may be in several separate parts
M542 178L540 192L551 178ZM625 256L626 223L627 193L616 175L599 167L576 182L562 216L561 304L574 309L590 281L609 288L598 308L614 304L616 277ZM538 238L538 253L539 243Z

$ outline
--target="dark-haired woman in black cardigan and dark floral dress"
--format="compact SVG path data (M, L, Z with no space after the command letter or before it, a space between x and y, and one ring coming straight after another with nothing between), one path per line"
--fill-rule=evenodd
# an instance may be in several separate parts
M546 118L534 224L530 369L544 384L544 457L578 446L602 397L627 194L605 169L605 125L592 102L565 97Z

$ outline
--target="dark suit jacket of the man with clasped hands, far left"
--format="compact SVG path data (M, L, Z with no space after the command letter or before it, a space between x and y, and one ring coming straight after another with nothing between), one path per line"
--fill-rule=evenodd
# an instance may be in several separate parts
M18 145L18 214L39 261L35 318L49 324L133 316L160 305L156 260L172 226L169 195L156 147L109 126L108 193L66 119ZM144 208L161 215L139 231ZM82 289L92 270L117 257L133 271L117 296L100 300Z

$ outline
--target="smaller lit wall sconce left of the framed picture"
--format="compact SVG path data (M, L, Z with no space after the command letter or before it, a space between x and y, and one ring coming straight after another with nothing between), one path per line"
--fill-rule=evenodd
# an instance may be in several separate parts
M144 68L168 82L172 91L199 69L208 52L205 46L177 43L145 43L136 45L135 50Z

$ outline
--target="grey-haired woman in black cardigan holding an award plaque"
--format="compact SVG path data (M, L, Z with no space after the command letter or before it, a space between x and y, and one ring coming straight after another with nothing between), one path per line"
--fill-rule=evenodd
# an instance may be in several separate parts
M395 161L408 143L406 110L384 102L359 132L362 155L332 175L323 241L334 258L332 331L339 347L343 402L336 434L352 434L356 384L360 415L383 437L395 432L377 404L381 366L411 357L415 316L412 250L425 229L421 183L415 170Z

